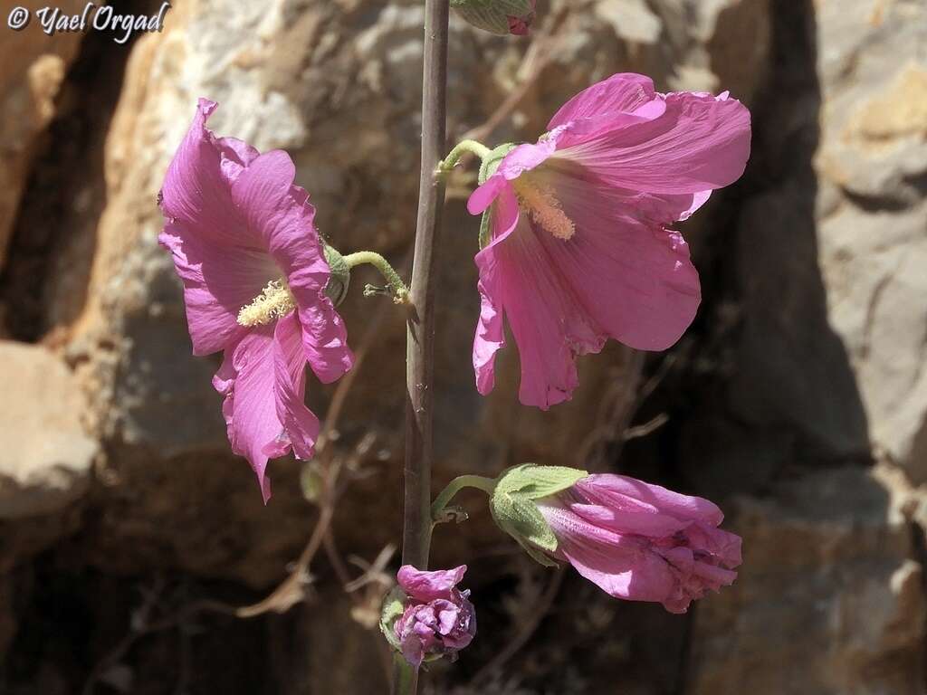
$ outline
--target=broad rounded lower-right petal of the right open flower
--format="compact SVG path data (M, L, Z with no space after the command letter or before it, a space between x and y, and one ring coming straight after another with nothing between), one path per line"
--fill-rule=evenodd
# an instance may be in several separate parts
M689 327L701 301L698 272L681 235L630 216L602 184L545 175L567 217L569 240L537 230L552 263L579 299L578 310L629 347L662 350Z

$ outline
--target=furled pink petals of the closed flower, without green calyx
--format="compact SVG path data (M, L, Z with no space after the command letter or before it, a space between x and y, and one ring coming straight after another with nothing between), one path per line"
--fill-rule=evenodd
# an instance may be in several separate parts
M717 528L724 515L707 499L597 474L535 504L557 538L553 557L618 599L685 613L737 578L741 538Z

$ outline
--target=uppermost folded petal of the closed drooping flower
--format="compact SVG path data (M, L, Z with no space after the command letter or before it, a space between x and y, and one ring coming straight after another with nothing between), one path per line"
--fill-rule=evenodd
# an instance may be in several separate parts
M707 499L681 495L666 487L644 483L627 475L592 474L579 480L575 488L593 504L620 508L628 499L634 499L677 519L700 521L713 526L724 520L724 514L717 505Z

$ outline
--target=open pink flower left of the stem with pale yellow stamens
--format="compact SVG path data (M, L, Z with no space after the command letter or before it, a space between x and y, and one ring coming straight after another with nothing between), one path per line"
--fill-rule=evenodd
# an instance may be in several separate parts
M280 150L260 154L206 129L197 115L161 190L159 236L184 284L195 355L224 351L212 384L236 454L248 458L266 502L267 461L312 456L319 421L303 404L305 367L325 383L350 369L344 322L325 296L329 268L308 194Z

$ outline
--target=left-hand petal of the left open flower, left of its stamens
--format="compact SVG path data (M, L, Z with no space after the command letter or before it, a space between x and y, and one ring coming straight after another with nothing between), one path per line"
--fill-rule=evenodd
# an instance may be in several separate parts
M266 253L216 244L198 227L176 219L159 235L184 284L186 319L195 355L210 355L244 333L238 311L280 273Z

